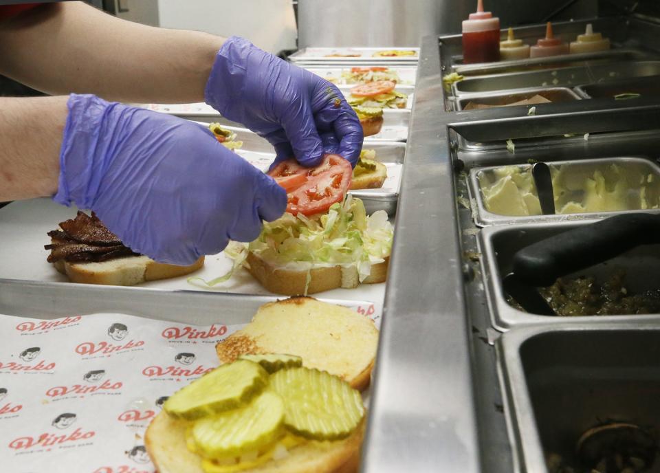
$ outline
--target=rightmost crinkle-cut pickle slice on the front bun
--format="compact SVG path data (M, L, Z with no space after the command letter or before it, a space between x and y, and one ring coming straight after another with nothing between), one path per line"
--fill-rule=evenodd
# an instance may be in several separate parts
M285 426L306 439L344 439L364 417L360 393L325 371L281 370L270 376L270 388L284 399Z

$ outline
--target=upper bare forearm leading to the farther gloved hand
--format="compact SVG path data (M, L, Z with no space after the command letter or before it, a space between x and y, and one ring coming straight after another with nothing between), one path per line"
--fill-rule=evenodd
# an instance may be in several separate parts
M78 1L50 3L0 23L0 74L53 95L201 102L223 41L120 20Z

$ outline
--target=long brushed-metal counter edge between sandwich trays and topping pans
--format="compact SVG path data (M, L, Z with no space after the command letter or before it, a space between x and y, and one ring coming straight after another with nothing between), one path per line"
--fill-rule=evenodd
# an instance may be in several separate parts
M362 471L481 471L437 36L423 39Z

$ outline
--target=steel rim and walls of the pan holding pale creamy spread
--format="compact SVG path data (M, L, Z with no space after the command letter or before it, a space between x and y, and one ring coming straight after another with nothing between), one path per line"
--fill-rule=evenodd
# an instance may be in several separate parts
M617 164L622 167L632 168L643 173L644 175L654 175L656 187L660 188L660 166L649 159L640 157L608 157L600 159L577 159L570 161L556 161L549 162L551 168L562 166L562 168L573 169L575 173L586 178L586 175L593 175L593 172L598 168L603 168L610 164ZM531 164L507 164L507 166L516 166L520 169L529 170L531 173ZM472 217L474 222L479 226L487 225L511 225L513 223L529 223L539 221L566 221L566 220L584 220L584 219L598 219L610 217L611 215L620 212L587 212L587 213L574 213L574 214L554 214L554 215L524 215L524 216L511 216L501 215L489 212L485 208L483 201L483 193L481 192L481 184L479 177L481 175L492 172L496 168L502 166L488 166L483 168L472 168L470 170L470 199L476 201L476 212L473 212ZM627 210L626 212L659 212L660 210Z

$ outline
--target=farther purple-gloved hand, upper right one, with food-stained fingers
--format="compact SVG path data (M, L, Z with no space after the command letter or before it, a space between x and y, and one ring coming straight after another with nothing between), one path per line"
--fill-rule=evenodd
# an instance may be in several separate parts
M324 153L358 162L362 126L339 89L245 39L232 36L222 45L204 95L226 118L275 146L275 163L295 156L316 166Z

